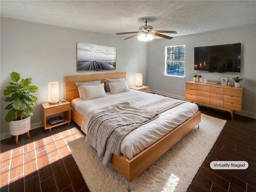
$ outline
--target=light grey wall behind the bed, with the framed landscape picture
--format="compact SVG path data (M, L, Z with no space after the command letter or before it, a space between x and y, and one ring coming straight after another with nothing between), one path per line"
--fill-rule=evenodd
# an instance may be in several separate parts
M62 28L9 18L1 18L0 112L1 139L10 137L5 121L7 103L2 92L8 86L10 73L20 73L21 78L32 78L38 86L34 95L38 101L31 123L41 122L40 104L48 101L48 82L60 82L60 98L64 98L64 76L126 72L128 86L135 84L135 73L143 73L147 85L146 43L137 38L123 40L124 36L106 35L70 28ZM116 47L116 70L101 72L76 72L76 42Z

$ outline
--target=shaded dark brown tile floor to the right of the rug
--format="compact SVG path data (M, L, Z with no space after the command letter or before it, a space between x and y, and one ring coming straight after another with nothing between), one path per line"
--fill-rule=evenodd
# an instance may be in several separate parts
M227 120L187 192L256 192L256 119L200 106L204 114ZM212 170L216 160L247 161L246 170Z

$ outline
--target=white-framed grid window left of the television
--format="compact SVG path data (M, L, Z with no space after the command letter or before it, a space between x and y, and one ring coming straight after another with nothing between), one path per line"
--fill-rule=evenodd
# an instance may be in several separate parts
M166 47L166 75L184 77L185 46Z

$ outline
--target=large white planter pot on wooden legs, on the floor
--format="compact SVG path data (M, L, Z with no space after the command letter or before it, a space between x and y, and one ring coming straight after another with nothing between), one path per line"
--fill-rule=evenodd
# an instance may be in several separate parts
M9 122L9 132L11 135L21 135L30 130L30 122L31 118L28 117L26 119L22 119L19 121L11 121Z

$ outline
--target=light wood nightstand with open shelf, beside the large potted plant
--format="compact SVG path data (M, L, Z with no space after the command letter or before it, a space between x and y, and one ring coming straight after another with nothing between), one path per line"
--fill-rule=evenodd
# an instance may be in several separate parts
M49 104L48 102L44 102L41 104L41 113L42 113L42 124L44 126L44 130L50 129L56 126L60 126L63 124L66 124L71 121L70 116L70 102L59 102L57 104ZM59 114L63 113L63 119L65 122L56 124L56 125L50 125L49 118L60 116Z

